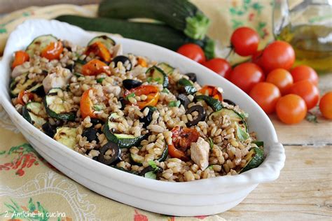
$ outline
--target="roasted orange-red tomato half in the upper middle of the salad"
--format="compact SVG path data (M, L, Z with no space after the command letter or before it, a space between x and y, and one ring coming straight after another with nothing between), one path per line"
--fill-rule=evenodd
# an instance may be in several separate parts
M132 93L134 93L135 96L141 96L143 94L147 96L145 101L137 101L136 105L139 106L139 108L144 108L146 106L155 106L158 103L158 87L155 87L153 85L141 85L139 87L132 88L131 90L126 90L124 94L125 98L127 99L127 96Z

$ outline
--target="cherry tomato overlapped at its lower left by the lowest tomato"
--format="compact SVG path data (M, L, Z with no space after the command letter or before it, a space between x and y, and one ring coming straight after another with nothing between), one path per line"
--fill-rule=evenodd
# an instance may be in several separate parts
M301 80L294 83L293 86L291 86L289 93L297 94L302 97L308 110L316 106L319 101L319 90L309 80Z

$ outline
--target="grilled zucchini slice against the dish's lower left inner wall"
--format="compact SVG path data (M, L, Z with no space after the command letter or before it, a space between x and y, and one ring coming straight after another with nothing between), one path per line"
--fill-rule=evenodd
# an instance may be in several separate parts
M22 116L30 124L41 129L41 126L46 123L46 120L39 115L40 111L43 109L43 105L38 102L29 102L22 108Z

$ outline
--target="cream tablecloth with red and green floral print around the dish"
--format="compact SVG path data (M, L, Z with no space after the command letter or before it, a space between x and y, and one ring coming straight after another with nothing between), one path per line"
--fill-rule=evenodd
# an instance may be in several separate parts
M233 29L253 27L271 38L272 2L195 0L212 20L209 36L220 48L228 45ZM0 19L0 55L6 39L29 18L51 19L63 14L95 16L96 5L30 7ZM228 28L226 28L228 27ZM0 220L223 220L222 213L195 218L174 218L141 211L102 197L64 176L32 148L0 106Z

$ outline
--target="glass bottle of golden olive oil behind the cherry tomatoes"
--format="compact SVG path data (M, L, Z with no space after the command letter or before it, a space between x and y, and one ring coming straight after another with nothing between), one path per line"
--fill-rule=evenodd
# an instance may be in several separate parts
M332 73L332 27L321 24L287 25L278 39L292 45L296 65L306 64L318 73Z

